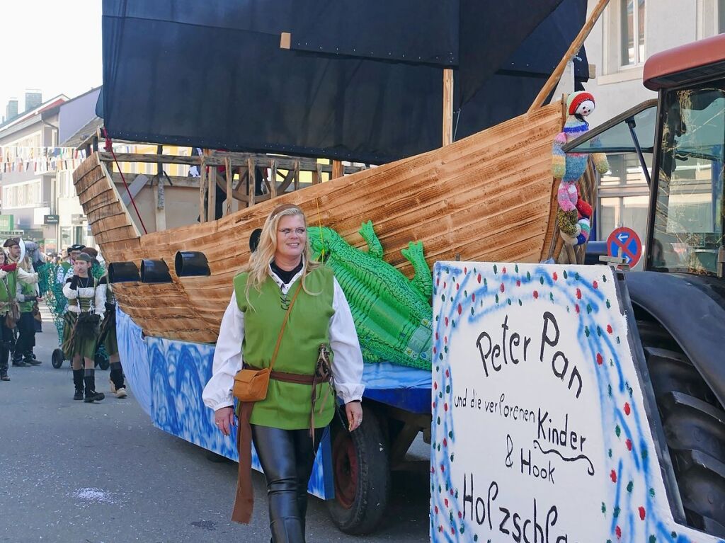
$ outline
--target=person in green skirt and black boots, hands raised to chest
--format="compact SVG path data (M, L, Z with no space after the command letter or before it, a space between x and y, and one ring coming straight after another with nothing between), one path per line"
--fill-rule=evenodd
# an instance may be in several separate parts
M105 397L103 393L96 392L94 357L106 309L106 282L103 278L93 278L91 257L86 253L78 254L73 272L74 275L67 278L63 286L63 294L68 299L68 310L63 317L63 355L70 360L73 370L73 399L90 403Z

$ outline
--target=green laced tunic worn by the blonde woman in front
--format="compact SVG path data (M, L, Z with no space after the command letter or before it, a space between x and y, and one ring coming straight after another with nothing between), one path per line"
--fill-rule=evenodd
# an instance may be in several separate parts
M299 291L282 336L274 370L312 375L315 373L320 344L330 344L330 319L334 314L334 275L330 268L317 268L305 278L305 287L316 296ZM291 284L288 297L297 291L300 279ZM244 362L254 368L268 368L286 310L281 304L281 291L273 278L268 277L261 291L249 289L247 303L245 288L247 273L234 278L234 291L239 310L244 313ZM334 394L328 384L317 386L318 402L315 427L327 426L334 415ZM312 400L310 385L283 383L270 379L267 397L254 403L250 422L260 426L299 430L310 428ZM323 399L326 399L323 404Z

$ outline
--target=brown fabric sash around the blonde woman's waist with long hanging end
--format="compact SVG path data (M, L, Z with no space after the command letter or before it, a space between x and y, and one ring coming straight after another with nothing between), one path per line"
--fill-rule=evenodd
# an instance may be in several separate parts
M249 369L260 369L252 368ZM316 389L318 384L330 381L315 376L303 375L302 373L287 373L284 371L272 371L270 378L283 383L294 383L312 386L312 413L310 415L310 432L312 439L315 439L315 402ZM239 452L239 472L236 478L236 498L231 513L231 520L242 524L249 524L252 521L254 510L254 489L252 487L252 426L249 420L252 418L254 402L239 402L239 415L236 428L236 449ZM312 443L314 447L314 442Z

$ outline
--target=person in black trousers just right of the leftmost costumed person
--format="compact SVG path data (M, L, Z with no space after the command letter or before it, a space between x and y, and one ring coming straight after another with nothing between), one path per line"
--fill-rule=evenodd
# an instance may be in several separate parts
M26 246L27 249L27 246ZM12 246L8 252L9 260L16 262L19 268L28 274L35 273L30 254L26 252L25 257L20 259L20 243ZM17 254L17 256L15 256ZM17 281L16 286L17 302L20 305L20 320L17 321L17 342L12 352L12 365L14 366L36 366L41 363L33 357L33 347L36 346L36 311L40 301L40 291L37 283L24 283Z

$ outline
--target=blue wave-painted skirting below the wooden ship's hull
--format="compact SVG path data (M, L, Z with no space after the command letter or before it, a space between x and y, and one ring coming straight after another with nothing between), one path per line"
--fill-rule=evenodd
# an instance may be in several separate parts
M214 413L202 402L204 385L212 376L214 346L144 337L141 328L119 308L116 323L123 371L133 396L154 426L238 460L236 436L224 436L214 424ZM261 471L254 449L252 465ZM334 497L328 435L320 444L308 490L326 500Z

